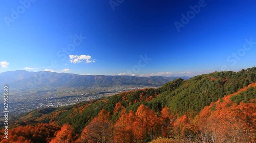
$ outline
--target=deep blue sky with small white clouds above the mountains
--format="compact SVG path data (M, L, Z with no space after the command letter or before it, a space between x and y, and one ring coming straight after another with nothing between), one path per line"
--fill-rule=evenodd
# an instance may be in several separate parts
M253 1L2 0L0 72L238 71L256 63L255 13Z

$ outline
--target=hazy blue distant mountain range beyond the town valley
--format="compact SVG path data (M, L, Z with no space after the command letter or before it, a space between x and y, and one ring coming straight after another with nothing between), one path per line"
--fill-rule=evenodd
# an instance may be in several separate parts
M48 71L28 72L25 70L0 73L0 85L8 84L12 88L30 88L40 86L62 87L103 87L113 85L162 85L178 77L136 77L78 75ZM187 79L184 77L184 79Z

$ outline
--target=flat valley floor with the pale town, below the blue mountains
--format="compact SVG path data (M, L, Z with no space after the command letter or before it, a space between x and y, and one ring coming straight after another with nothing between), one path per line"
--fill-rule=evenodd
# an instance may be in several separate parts
M68 106L82 101L112 96L124 91L144 88L158 88L158 86L117 85L85 88L38 87L23 90L11 89L8 105L12 115L19 115L34 109ZM0 102L3 102L3 98L0 99Z

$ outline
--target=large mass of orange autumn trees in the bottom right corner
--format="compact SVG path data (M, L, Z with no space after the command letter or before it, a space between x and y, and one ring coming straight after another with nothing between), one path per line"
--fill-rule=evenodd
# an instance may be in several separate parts
M255 83L249 85L255 87ZM199 136L208 142L254 142L256 141L255 103L233 103L230 97L245 91L245 87L206 106L200 112L197 126ZM202 140L202 139L201 139Z

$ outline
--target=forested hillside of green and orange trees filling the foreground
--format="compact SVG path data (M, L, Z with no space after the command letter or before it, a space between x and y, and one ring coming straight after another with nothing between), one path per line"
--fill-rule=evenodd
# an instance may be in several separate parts
M1 142L255 142L255 75L256 67L214 72L34 110Z

